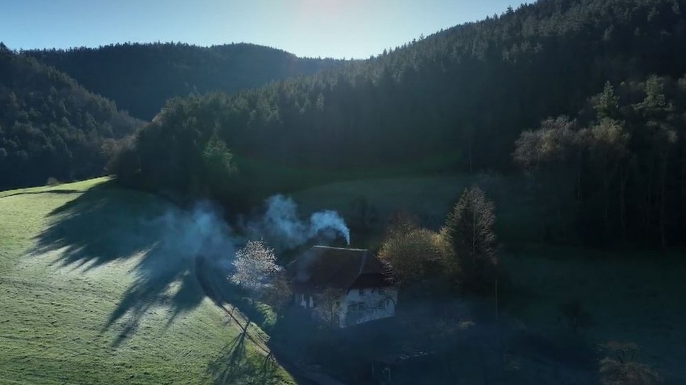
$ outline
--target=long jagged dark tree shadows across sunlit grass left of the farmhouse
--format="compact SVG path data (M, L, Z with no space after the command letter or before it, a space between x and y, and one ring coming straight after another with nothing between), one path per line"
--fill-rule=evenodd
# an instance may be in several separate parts
M88 273L137 258L129 284L103 331L116 326L118 346L144 315L161 309L167 326L205 297L197 255L231 255L228 228L210 208L185 211L153 195L96 187L56 208L30 255L57 252L53 265Z

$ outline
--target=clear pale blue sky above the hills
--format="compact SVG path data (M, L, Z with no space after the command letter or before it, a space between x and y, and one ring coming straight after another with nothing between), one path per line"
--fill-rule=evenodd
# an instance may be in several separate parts
M256 43L304 57L364 59L516 0L0 0L9 48L182 41Z

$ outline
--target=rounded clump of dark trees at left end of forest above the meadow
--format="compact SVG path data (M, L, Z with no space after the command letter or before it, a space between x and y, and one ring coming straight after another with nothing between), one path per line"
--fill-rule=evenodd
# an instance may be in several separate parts
M169 101L164 114L137 133L135 146L119 152L112 166L119 183L180 199L235 199L239 190L233 154L219 139L217 121L202 109L208 100L192 96Z

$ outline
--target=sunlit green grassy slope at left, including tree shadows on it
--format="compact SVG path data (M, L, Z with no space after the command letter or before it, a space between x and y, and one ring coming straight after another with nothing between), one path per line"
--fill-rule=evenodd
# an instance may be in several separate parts
M0 193L0 383L291 383L204 297L173 210L106 179Z

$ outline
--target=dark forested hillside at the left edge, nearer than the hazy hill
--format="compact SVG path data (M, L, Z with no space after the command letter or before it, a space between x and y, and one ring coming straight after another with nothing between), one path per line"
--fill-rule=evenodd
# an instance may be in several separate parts
M142 122L0 43L0 190L101 175Z

